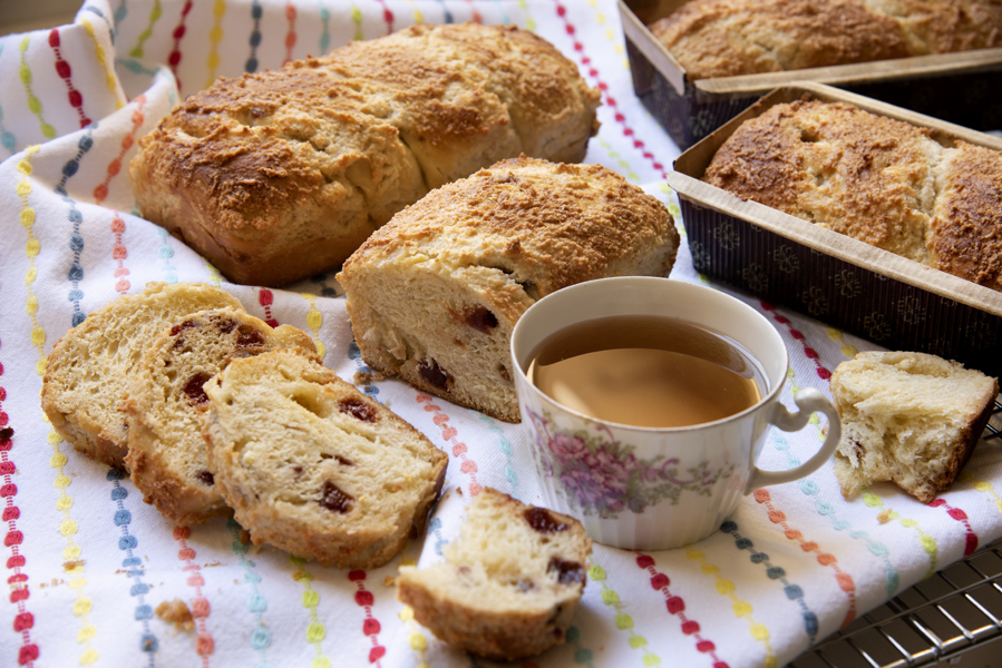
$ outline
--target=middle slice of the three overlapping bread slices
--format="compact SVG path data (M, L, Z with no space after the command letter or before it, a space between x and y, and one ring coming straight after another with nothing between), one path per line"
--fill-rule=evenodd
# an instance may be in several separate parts
M232 308L176 320L146 351L123 402L128 414L125 464L143 500L182 527L228 511L205 455L202 423L208 396L202 386L231 360L289 348L318 362L309 335L275 330Z

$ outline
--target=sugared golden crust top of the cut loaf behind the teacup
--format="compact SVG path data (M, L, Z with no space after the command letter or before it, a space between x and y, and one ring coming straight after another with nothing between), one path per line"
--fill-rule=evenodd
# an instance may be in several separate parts
M445 269L479 264L514 274L539 298L654 255L677 235L664 206L620 175L521 157L429 193L376 230L343 271L401 258L434 258Z

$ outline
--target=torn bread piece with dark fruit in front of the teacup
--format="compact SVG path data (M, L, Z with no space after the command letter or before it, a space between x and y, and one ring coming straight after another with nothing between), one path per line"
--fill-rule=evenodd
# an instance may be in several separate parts
M444 562L400 568L397 598L441 640L489 659L563 642L587 580L584 528L490 488L467 512Z

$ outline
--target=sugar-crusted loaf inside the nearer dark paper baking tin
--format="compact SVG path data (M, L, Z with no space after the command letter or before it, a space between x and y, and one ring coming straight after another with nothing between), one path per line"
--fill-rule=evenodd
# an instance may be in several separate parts
M1002 289L1002 153L845 102L776 105L741 124L707 183Z

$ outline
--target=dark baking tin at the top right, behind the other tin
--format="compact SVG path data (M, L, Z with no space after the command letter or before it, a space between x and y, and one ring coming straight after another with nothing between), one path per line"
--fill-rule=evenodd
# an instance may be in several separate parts
M693 81L646 27L682 4L683 0L629 0L629 4L620 0L633 89L681 150L766 92L801 80L837 86L977 130L1002 128L1002 49Z

